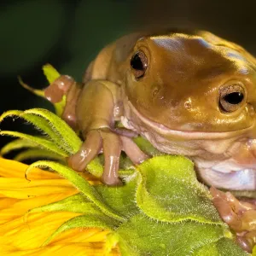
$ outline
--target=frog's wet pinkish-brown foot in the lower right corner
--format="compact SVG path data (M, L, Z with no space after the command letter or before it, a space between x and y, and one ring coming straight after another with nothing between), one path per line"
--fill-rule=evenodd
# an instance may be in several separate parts
M213 205L224 222L236 232L236 241L248 253L252 252L256 241L256 205L247 201L238 201L230 192L211 188Z

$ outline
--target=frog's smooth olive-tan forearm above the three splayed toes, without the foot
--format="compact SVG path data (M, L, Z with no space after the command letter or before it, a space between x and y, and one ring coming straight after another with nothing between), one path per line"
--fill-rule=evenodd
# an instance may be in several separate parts
M102 80L91 80L84 85L77 104L77 119L83 135L94 129L113 129L116 87Z

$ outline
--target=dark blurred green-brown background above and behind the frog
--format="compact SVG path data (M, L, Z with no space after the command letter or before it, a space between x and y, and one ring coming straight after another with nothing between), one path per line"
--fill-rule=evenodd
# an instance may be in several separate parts
M0 113L51 108L18 83L44 88L51 63L79 80L102 47L143 27L204 29L256 55L256 1L23 0L0 3ZM18 123L19 124L19 123ZM10 121L1 124L9 128ZM11 126L16 129L16 126ZM0 146L5 138L0 137Z

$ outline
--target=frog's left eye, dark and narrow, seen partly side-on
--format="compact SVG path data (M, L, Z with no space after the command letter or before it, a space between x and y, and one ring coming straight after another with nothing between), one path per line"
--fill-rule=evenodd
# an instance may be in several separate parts
M142 50L138 50L135 55L131 57L131 70L136 79L141 79L148 67L148 58Z

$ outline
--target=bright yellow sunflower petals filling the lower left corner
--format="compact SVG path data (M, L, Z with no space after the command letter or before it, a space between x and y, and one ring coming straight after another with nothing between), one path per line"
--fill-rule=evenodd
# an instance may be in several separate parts
M61 233L41 247L46 239L77 212L31 212L79 193L67 179L0 158L0 254L1 255L107 255L108 230L75 228ZM118 248L108 255L119 255Z

